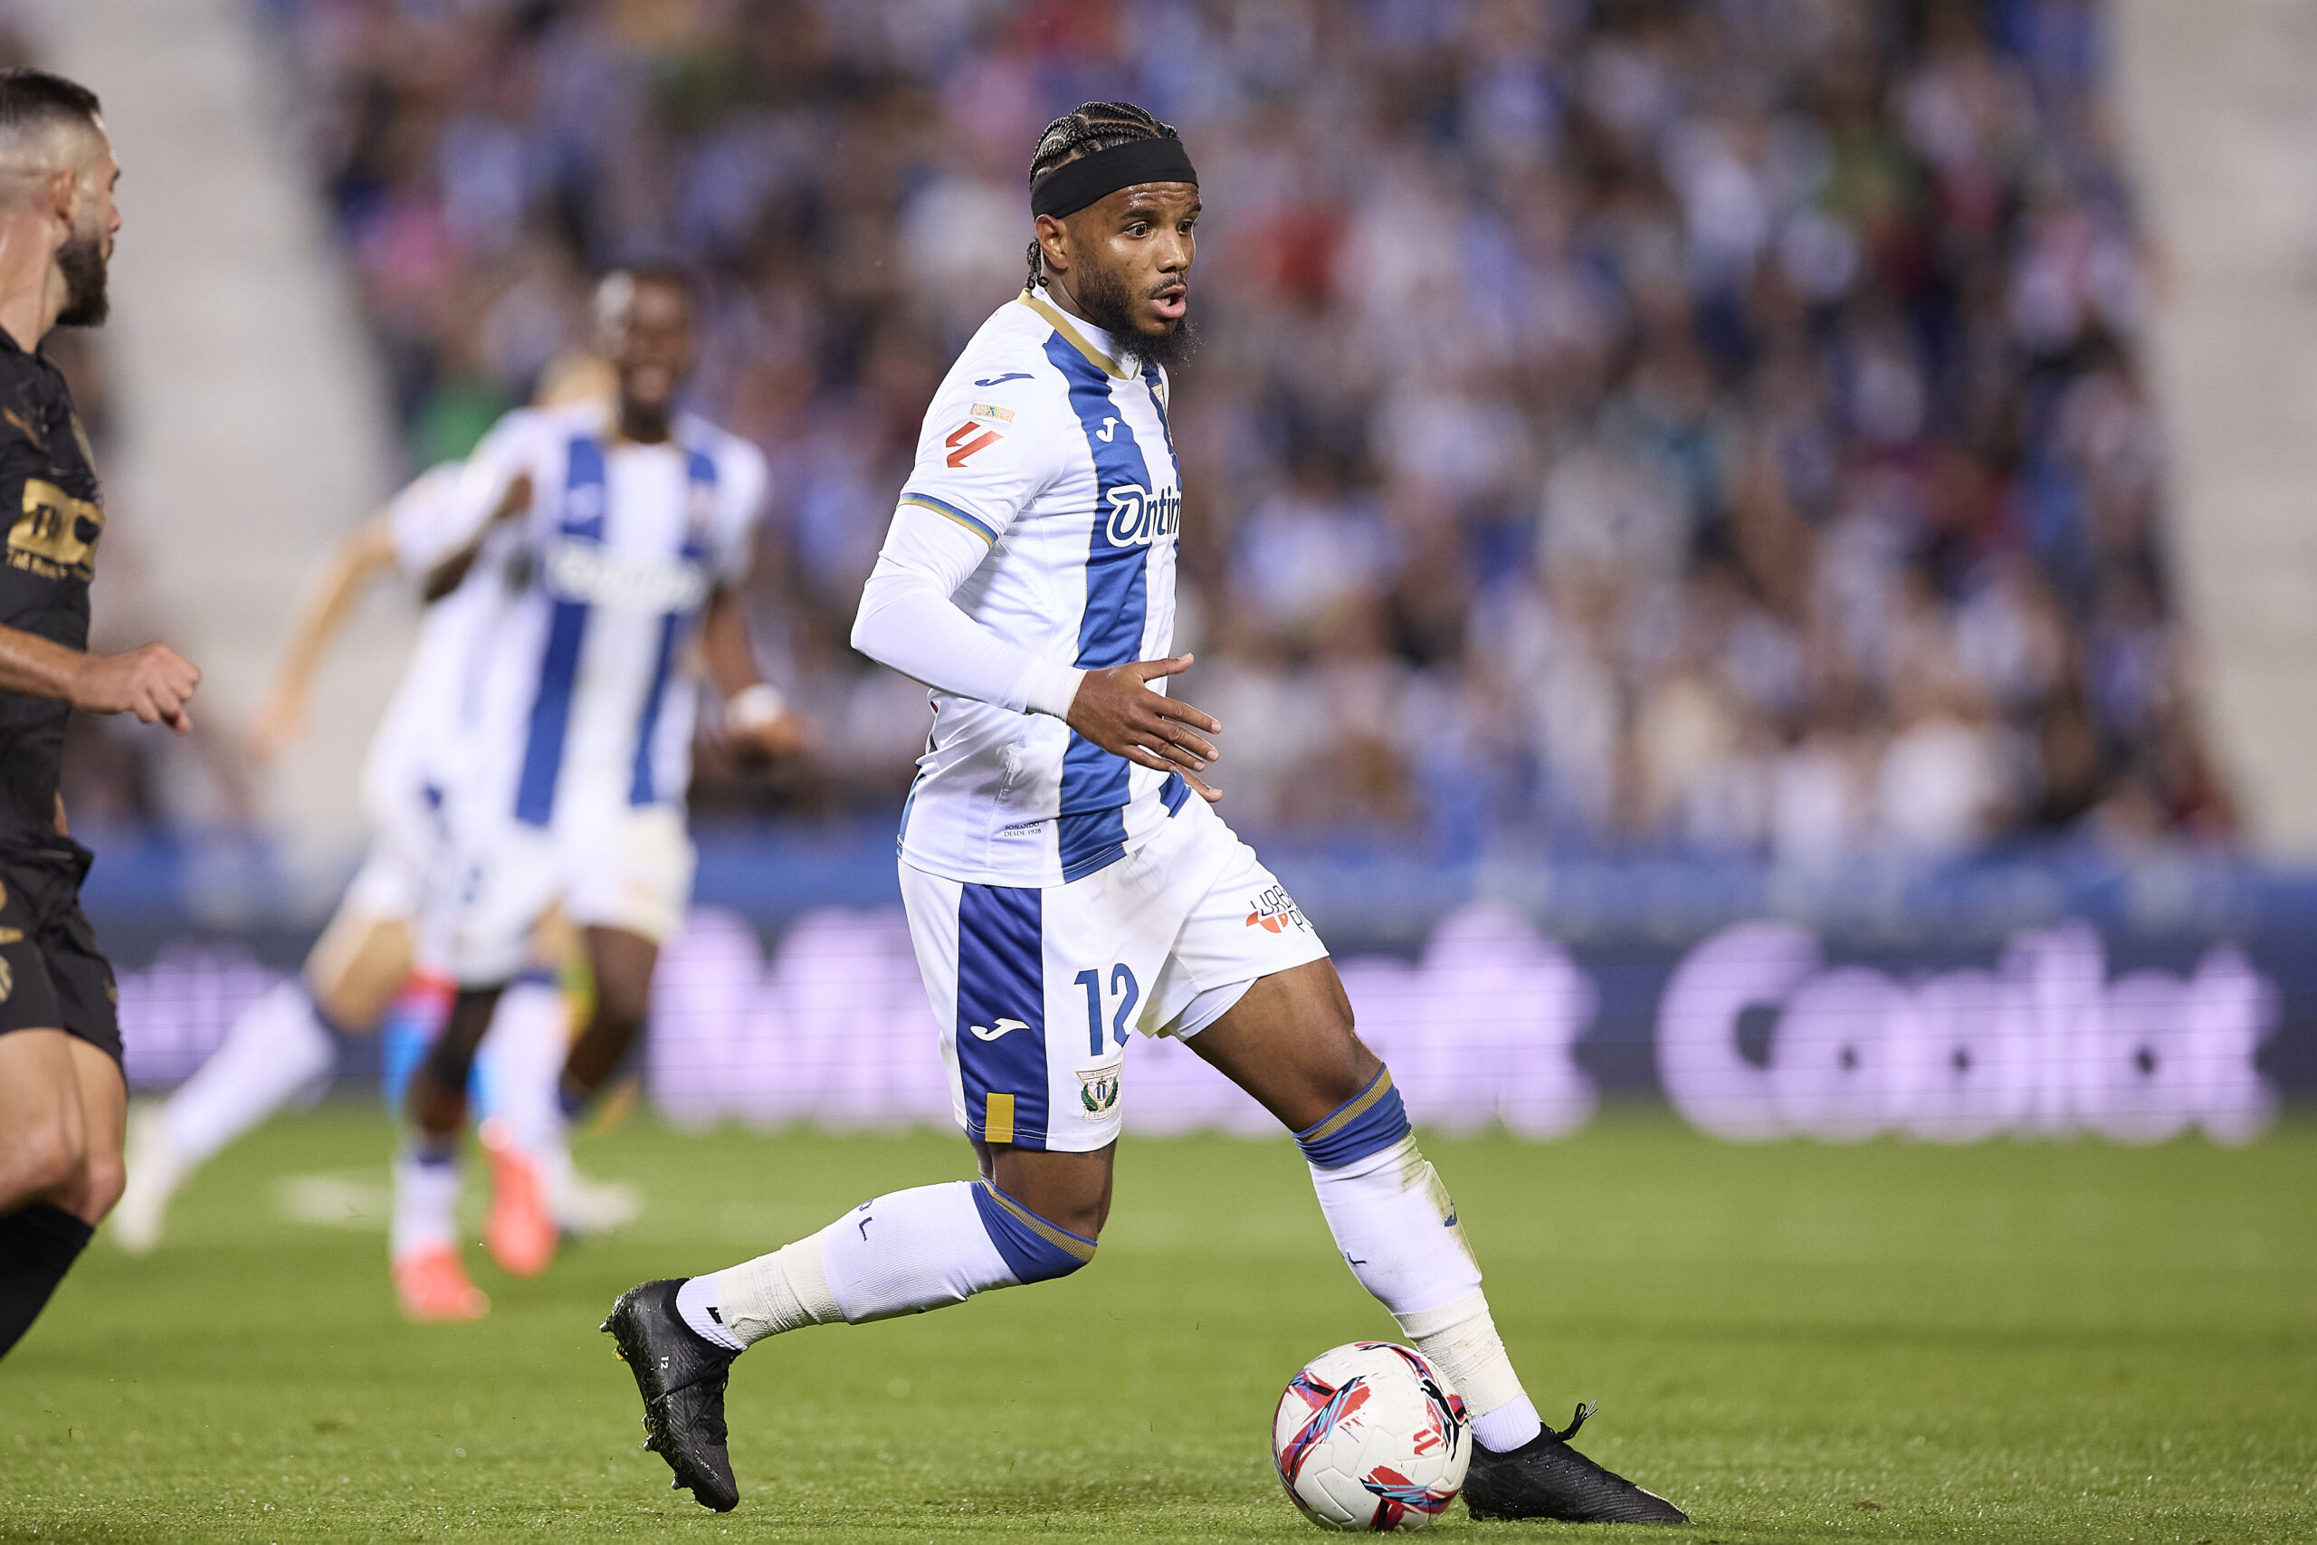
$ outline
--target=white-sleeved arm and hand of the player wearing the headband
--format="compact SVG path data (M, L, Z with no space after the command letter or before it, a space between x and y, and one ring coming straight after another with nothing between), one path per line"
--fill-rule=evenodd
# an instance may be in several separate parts
M1103 750L1154 771L1177 771L1200 797L1219 799L1198 774L1216 755L1203 732L1221 725L1145 686L1186 669L1191 656L1080 669L1033 656L952 600L1061 470L1057 447L1033 429L1036 403L1019 403L1001 419L1017 429L1001 431L971 417L966 391L955 396L945 391L924 417L918 466L862 588L853 649L943 693L1061 718Z

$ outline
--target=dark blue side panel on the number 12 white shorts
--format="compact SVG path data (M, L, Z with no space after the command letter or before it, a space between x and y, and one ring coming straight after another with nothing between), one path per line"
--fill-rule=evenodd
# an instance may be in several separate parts
M996 1096L1013 1142L1045 1147L1045 892L964 885L957 894L957 1075L966 1130L987 1140Z

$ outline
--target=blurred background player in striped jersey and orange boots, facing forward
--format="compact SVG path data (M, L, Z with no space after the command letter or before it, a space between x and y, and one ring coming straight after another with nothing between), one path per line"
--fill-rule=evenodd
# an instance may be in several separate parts
M494 1151L494 1258L535 1274L554 1255L563 1123L616 1072L644 1022L660 943L684 920L693 843L697 653L744 753L781 755L802 725L758 676L734 586L765 503L765 456L677 394L693 364L681 271L637 266L595 294L609 405L517 410L475 447L461 540L503 574L461 683L449 827L452 896L429 952L456 980L449 1022L410 1079L412 1142L394 1167L392 1258L412 1318L487 1309L456 1251L468 1072L538 929L577 927L593 1010L563 1061L558 1100ZM510 498L510 491L521 491ZM528 1198L528 1202L524 1200Z

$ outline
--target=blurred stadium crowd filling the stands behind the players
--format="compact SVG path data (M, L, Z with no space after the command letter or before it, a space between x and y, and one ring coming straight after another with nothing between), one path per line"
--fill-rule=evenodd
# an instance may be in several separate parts
M2169 618L2090 0L266 0L412 466L707 283L760 637L823 725L697 804L890 808L846 628L1084 97L1177 123L1184 693L1235 820L1946 855L2227 832Z

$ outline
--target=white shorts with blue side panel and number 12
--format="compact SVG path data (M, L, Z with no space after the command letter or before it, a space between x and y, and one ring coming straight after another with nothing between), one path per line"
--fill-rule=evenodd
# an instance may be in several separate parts
M1091 1154L1117 1140L1126 1033L1196 1035L1328 945L1205 801L1068 885L901 864L918 971L966 1135Z

